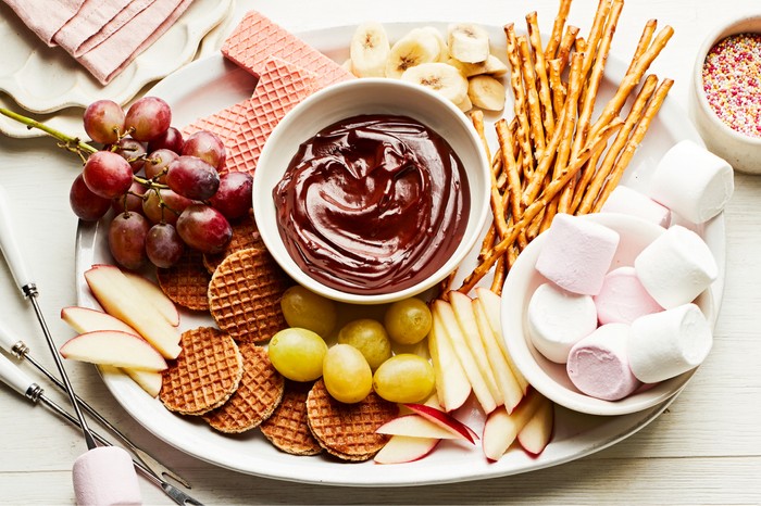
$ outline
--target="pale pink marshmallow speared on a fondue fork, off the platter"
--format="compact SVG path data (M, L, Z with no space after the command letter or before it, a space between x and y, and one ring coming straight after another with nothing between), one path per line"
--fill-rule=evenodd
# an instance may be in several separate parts
M99 446L80 455L72 478L79 506L142 504L133 459L117 446Z

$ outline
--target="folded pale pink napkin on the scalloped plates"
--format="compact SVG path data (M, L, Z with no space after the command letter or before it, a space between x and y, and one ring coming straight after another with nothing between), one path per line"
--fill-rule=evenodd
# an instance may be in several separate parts
M192 0L3 0L48 46L102 85L161 37Z

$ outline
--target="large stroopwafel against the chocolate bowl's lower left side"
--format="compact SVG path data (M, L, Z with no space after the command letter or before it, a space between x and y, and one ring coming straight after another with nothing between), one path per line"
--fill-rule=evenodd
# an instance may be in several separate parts
M209 283L209 312L238 342L262 342L287 327L280 299L294 282L266 250L227 256Z

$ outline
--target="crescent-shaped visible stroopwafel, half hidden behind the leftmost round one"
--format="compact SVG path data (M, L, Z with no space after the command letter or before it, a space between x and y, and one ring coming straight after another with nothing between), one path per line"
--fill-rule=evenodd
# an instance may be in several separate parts
M272 366L265 349L252 343L238 349L244 357L238 390L225 404L203 415L220 432L245 432L259 426L280 404L285 390L285 378Z

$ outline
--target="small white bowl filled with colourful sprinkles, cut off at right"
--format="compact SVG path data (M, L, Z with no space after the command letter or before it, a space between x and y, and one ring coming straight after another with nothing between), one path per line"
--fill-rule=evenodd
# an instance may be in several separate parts
M704 39L689 106L710 151L735 170L761 174L761 13L724 23Z

